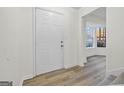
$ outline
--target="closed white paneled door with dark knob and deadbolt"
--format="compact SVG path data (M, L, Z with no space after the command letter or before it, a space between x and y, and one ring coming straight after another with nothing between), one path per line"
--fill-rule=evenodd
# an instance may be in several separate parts
M36 9L36 74L63 68L64 15Z

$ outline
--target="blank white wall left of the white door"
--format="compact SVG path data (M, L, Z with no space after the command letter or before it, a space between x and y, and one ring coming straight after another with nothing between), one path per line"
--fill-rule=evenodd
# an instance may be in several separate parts
M0 8L0 81L32 73L32 8Z

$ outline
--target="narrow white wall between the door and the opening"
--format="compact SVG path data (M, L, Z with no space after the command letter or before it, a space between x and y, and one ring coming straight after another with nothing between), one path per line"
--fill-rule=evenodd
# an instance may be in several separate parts
M66 67L72 67L78 64L78 11L75 9L66 9L67 20L65 21L67 29L65 30L65 63ZM65 15L65 16L66 16ZM66 56L68 54L68 56Z

